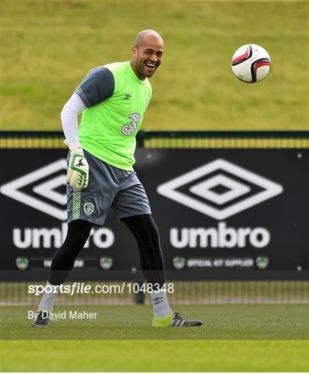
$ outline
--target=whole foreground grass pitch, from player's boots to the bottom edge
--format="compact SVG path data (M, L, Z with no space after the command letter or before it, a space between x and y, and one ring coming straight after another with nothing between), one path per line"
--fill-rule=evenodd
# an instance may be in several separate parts
M55 308L55 312L85 310L98 316L92 321L51 321L49 330L32 330L28 310L35 308L2 307L2 371L309 369L309 344L304 340L308 339L308 305L178 309L201 318L203 328L153 329L150 306L110 305Z

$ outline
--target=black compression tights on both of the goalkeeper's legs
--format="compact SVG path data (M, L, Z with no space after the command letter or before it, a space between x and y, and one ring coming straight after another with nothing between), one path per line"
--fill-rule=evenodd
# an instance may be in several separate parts
M134 215L122 220L138 242L140 265L148 283L165 283L164 262L156 224L150 214ZM68 224L68 233L50 265L48 282L61 285L73 269L75 258L84 247L91 231L91 223L75 220Z

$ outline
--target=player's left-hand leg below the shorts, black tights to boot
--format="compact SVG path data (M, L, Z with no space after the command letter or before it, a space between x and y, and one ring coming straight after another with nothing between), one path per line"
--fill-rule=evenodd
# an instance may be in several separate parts
M62 246L55 253L50 265L48 281L46 283L48 290L44 293L39 303L37 318L32 323L32 327L49 326L47 316L48 313L53 312L53 305L59 285L64 283L68 274L73 269L75 258L84 247L91 232L91 227L91 222L84 220L75 220L68 224L66 240L64 240ZM49 290L52 287L53 292Z

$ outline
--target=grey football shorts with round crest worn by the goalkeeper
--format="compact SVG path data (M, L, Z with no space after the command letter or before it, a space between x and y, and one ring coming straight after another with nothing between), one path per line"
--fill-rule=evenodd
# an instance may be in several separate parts
M111 209L119 220L131 215L151 214L149 201L135 171L127 171L84 151L89 165L86 188L66 184L68 223L85 220L102 226ZM69 155L68 155L69 159Z

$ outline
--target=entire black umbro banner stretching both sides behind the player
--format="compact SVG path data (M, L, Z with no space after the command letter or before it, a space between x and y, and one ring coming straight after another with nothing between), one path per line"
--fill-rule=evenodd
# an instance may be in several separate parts
M1 154L2 278L46 279L66 235L66 150ZM308 149L139 149L136 159L167 277L306 278ZM136 279L138 268L133 236L110 213L93 227L73 278Z

